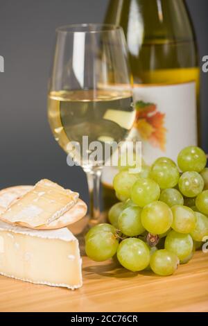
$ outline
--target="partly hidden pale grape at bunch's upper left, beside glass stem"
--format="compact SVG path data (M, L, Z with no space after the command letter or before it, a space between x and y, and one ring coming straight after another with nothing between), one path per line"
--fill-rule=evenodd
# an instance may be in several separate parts
M137 174L128 173L128 171L121 171L114 176L113 186L116 194L124 196L125 199L130 198L130 191L132 186L138 180Z

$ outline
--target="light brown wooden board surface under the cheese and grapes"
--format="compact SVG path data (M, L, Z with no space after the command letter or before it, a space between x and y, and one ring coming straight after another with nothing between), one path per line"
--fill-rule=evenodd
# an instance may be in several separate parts
M83 257L83 279L71 291L0 276L0 311L208 311L208 254L202 252L169 277Z

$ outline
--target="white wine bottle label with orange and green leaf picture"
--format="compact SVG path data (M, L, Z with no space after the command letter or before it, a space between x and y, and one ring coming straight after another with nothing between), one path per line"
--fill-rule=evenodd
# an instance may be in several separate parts
M177 160L180 150L197 145L196 83L139 85L134 88L137 110L134 132L142 143L142 157Z

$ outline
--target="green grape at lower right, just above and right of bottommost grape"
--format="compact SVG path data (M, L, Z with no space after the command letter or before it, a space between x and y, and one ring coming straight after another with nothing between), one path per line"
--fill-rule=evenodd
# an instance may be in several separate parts
M193 240L190 234L182 234L172 230L166 237L165 248L174 252L180 260L183 260L191 254Z

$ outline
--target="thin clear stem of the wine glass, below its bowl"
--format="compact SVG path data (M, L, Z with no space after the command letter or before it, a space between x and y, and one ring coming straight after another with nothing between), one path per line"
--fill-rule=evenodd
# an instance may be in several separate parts
M85 169L89 187L89 225L98 224L101 218L100 187L102 166Z

